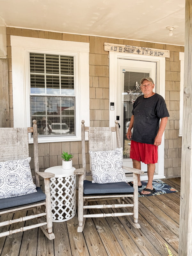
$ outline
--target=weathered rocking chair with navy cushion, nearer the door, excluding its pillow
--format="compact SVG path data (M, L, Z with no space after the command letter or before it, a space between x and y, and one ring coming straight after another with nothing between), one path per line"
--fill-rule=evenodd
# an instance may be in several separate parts
M116 132L117 147L121 148L120 133L118 122L115 122L115 127L85 127L84 120L82 120L82 164L83 168L77 169L75 173L79 176L79 189L78 189L78 221L79 226L78 232L82 232L86 218L94 217L116 217L116 216L129 216L133 215L134 222L131 224L135 228L140 228L138 223L138 174L143 174L140 171L131 167L124 167L126 171L133 173L133 187L129 186L126 182L116 183L92 183L92 181L85 180L86 177L86 158L85 158L85 132L89 133L89 150L92 151L103 151L113 150L112 136L108 136L112 132ZM93 133L93 136L91 135ZM91 136L90 136L91 135ZM111 138L111 141L110 141ZM90 157L91 166L91 157ZM116 190L116 191L115 191ZM133 198L133 204L127 204L125 202L126 197ZM89 201L98 200L111 200L117 199L118 204L101 204L101 205L88 205ZM97 213L87 214L88 209L103 209L103 208L123 208L122 212L114 213ZM127 209L133 207L133 212L127 212Z

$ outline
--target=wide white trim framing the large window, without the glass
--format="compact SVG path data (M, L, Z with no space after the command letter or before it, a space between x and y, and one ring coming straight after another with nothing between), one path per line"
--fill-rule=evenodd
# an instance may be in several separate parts
M76 58L76 136L38 138L38 142L81 140L81 120L90 125L89 43L11 36L14 127L30 126L28 52L72 54ZM33 143L33 139L29 139Z

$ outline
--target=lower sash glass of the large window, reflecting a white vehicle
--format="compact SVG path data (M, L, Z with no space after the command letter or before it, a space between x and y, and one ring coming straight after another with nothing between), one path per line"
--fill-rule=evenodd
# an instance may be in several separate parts
M75 97L31 95L30 106L40 137L75 134Z

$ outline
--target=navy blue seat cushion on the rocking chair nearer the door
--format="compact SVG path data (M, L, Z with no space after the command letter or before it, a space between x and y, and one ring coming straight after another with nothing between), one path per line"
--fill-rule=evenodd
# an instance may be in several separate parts
M126 182L114 183L92 183L92 181L84 180L83 184L84 195L93 194L132 194L134 188L129 186Z

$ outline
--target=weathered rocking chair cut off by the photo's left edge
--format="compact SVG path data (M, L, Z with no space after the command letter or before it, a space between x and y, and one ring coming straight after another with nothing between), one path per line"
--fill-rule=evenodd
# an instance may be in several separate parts
M12 223L22 222L25 220L31 220L34 218L36 218L37 224L2 232L0 233L0 237L9 236L17 232L40 227L44 232L45 236L47 236L50 240L55 238L52 232L51 196L49 188L49 179L54 177L55 175L49 172L39 172L36 120L33 120L33 123L33 127L28 128L0 128L1 162L27 158L29 156L28 132L33 132L35 164L35 177L33 178L36 184L35 193L7 198L3 198L3 191L2 194L0 193L0 215L9 215L9 213L26 211L30 209L33 209L34 213L30 216L28 215L19 219L11 219L0 222L0 227L10 225ZM3 164L1 164L1 166L3 166ZM14 175L14 171L12 171L12 173ZM39 187L39 176L44 178L45 193L43 193L43 191ZM1 181L3 182L3 179L4 177L0 177L0 185L2 184ZM17 186L18 188L20 188L22 184L17 184ZM15 188L15 191L16 190L17 189ZM45 208L45 210L42 211L41 208Z

